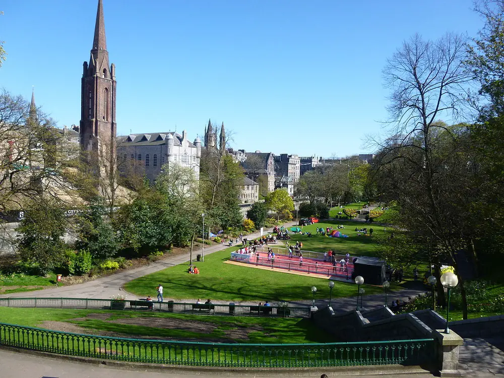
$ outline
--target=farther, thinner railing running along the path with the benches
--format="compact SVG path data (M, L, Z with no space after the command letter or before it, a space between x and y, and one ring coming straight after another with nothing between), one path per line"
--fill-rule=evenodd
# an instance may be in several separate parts
M138 299L88 299L88 298L0 298L0 307L25 308L75 308L148 310L174 313L192 313L217 316L251 316L309 318L310 307L258 306L234 304L196 304L174 301L156 302Z

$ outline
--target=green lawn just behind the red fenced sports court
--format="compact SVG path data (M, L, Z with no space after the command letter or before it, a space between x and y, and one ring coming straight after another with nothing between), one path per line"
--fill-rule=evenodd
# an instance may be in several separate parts
M345 228L339 231L348 238L333 238L328 236L321 236L316 234L317 227L333 227L336 229L337 225L342 224ZM324 221L320 223L311 224L309 226L303 226L303 232L311 232L311 237L306 235L294 234L291 235L292 241L303 242L303 249L312 250L315 252L325 252L329 249L336 251L336 253L345 255L347 252L350 256L375 256L375 242L369 235L359 236L359 233L355 231L355 227L359 229L366 227L368 230L372 228L374 230L373 235L384 235L384 228L373 223L363 223L358 221ZM292 242L291 242L292 243Z

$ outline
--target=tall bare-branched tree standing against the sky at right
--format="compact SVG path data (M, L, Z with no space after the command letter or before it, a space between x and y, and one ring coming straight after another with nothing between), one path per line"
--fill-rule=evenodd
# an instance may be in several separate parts
M463 94L472 80L472 74L463 67L466 49L466 40L459 35L447 34L437 41L425 41L415 35L388 60L384 77L391 89L388 111L394 128L380 146L377 162L377 169L387 171L389 177L404 172L393 180L392 191L403 214L410 215L410 218L403 217L404 222L410 220L403 226L412 232L423 230L424 237L439 245L456 268L455 254L462 243L460 235L452 232L453 219L449 214L454 212L447 213L446 189L453 186L447 186L446 178L454 177L446 168L459 162L451 161L439 147L452 146L450 151L456 154L457 129L437 119L447 114L457 118L466 104ZM395 164L407 168L389 169ZM414 193L411 188L415 189ZM455 204L450 201L450 205ZM406 210L408 207L417 210L414 217L413 211ZM457 273L462 282L460 271ZM461 290L465 301L463 284Z

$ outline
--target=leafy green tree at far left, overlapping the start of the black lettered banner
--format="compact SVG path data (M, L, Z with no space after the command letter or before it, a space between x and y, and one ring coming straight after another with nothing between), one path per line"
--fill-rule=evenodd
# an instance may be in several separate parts
M23 261L38 265L41 275L64 260L66 224L64 211L50 199L31 201L25 208L25 218L16 228L18 249Z

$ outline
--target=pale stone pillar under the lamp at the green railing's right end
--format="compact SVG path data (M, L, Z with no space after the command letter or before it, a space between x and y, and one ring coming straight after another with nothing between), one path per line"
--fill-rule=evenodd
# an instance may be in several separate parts
M438 342L438 367L441 376L462 376L459 370L459 348L464 344L462 339L455 332L446 334L444 330L436 330L433 336Z

